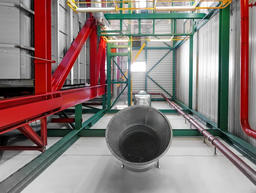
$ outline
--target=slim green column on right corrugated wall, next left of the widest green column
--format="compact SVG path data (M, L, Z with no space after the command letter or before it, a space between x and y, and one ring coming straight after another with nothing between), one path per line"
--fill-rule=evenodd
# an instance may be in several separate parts
M193 37L189 39L189 109L193 106Z

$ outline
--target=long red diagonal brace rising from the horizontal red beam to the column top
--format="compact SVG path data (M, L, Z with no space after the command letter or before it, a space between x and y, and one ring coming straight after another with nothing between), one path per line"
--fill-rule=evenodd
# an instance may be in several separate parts
M94 26L95 20L93 18L88 19L84 24L84 27L81 29L78 36L70 46L70 49L67 51L67 54L61 60L61 63L52 75L52 91L59 90L64 85L70 70L72 69Z

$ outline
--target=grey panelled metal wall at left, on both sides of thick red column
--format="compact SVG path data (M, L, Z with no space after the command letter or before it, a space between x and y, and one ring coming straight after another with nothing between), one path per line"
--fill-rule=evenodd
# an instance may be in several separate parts
M6 26L0 30L1 50L33 55L35 50L32 27L33 1L0 0L0 26ZM20 6L25 6L28 11L20 9ZM84 26L85 20L85 13L74 13L67 6L66 0L52 1L52 60L56 61L52 63L52 72L58 67L81 27ZM0 58L0 86L34 85L32 58L4 52L0 52ZM66 84L86 83L86 59L86 46L84 46Z

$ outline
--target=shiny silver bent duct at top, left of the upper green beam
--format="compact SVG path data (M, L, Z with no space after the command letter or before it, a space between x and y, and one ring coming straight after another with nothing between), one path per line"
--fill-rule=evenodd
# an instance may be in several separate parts
M91 3L92 8L102 8L101 0L92 0L92 2L99 2L99 3ZM97 23L100 24L104 31L112 30L110 23L106 20L104 14L102 12L92 12L94 19L97 20Z

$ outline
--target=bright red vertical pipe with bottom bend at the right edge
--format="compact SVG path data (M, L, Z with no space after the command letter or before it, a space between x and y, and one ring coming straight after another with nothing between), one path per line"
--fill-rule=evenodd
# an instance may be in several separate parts
M249 124L249 3L241 0L241 83L240 124L246 135L256 139L256 131Z

